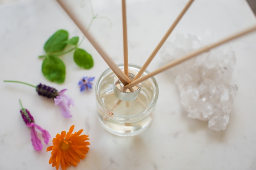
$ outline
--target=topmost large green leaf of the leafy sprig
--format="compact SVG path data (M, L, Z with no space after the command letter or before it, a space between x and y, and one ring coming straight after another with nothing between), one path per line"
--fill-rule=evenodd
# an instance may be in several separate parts
M46 53L56 53L62 51L68 40L68 32L66 30L58 30L55 32L44 44L44 50Z

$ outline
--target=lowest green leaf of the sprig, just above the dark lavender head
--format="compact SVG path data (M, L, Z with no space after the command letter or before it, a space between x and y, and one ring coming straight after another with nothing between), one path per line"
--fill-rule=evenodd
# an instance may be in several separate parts
M66 67L62 60L57 57L49 56L44 59L42 64L44 77L55 83L63 83L66 76Z

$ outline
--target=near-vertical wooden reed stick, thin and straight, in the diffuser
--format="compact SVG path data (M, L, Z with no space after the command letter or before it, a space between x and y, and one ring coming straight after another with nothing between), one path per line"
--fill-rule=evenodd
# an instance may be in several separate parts
M122 0L122 16L123 16L123 43L124 43L124 74L128 77L128 43L127 43L127 21L126 21L126 4Z

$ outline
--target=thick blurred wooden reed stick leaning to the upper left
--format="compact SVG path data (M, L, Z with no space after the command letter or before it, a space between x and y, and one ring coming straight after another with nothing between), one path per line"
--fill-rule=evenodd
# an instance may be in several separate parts
M84 36L90 41L92 46L98 51L100 56L105 60L110 69L116 74L119 80L127 85L131 82L131 80L124 74L124 72L111 60L111 58L107 55L107 53L100 47L100 45L92 38L92 36L87 32L87 29L81 24L74 13L72 13L67 6L64 5L63 1L57 0L63 10L68 14L68 16L73 20L76 26L81 30Z

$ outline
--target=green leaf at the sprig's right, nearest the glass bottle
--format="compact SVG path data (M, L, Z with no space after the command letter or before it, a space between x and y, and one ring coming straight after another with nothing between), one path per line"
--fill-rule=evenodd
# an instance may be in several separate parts
M80 48L77 48L74 52L74 61L79 67L84 69L90 69L93 67L92 55Z

